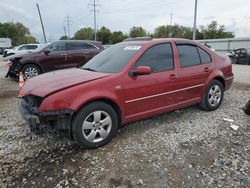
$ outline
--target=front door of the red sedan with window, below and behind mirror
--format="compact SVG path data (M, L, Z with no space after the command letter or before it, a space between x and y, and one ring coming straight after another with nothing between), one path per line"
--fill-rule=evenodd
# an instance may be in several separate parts
M178 70L174 66L170 43L158 44L147 49L134 68L138 66L149 66L153 72L136 77L128 75L126 78L126 118L152 115L178 104Z

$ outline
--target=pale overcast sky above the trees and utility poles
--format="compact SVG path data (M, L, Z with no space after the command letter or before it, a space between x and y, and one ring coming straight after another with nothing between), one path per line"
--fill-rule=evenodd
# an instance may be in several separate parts
M159 25L170 23L193 26L195 0L96 0L98 27L111 31L129 32L132 26L142 26L149 32ZM0 22L21 22L40 42L42 29L37 13L39 4L45 32L49 40L57 40L67 29L70 18L70 35L82 27L93 27L91 0L0 0ZM250 37L250 0L198 0L197 25L212 20L224 24L236 37Z

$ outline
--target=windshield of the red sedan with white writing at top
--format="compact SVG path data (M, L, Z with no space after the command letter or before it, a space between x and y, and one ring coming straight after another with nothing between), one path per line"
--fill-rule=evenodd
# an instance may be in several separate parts
M82 68L105 73L120 72L141 47L142 45L126 43L112 45L92 58Z

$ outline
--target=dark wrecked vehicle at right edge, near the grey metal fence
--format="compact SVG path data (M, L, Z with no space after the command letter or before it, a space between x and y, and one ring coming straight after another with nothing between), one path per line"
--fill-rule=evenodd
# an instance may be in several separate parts
M232 64L250 65L250 54L246 48L239 48L227 53Z

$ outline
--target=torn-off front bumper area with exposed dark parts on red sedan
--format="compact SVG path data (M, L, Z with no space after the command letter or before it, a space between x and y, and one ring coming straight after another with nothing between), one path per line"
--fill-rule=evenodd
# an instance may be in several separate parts
M73 110L39 112L38 108L41 102L37 98L35 96L25 96L18 99L21 116L28 123L32 132L37 132L35 130L41 130L42 127L47 125L61 130L70 129Z

